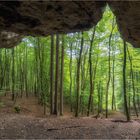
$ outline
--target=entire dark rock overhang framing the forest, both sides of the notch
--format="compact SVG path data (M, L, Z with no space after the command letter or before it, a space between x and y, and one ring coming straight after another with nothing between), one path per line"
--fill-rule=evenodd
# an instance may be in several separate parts
M122 37L140 47L140 2L136 1L1 1L0 47L14 47L27 35L46 36L87 30L109 4Z

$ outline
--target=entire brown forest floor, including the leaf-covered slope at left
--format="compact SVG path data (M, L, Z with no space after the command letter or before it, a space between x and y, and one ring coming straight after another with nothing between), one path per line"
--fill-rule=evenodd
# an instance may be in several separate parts
M140 139L140 119L124 121L124 115L115 112L108 119L90 117L74 118L66 112L62 117L44 116L43 107L35 98L18 99L21 113L14 112L9 97L1 100L0 138L1 139Z

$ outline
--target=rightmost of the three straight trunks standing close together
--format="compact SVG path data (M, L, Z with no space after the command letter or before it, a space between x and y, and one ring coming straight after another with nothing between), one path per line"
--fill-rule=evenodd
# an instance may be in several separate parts
M64 80L64 36L61 48L61 78L60 78L60 115L63 115L63 80Z

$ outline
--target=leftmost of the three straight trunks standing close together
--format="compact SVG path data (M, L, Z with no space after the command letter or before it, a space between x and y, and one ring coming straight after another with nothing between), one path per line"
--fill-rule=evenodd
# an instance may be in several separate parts
M54 112L54 36L51 35L51 55L50 55L50 114Z

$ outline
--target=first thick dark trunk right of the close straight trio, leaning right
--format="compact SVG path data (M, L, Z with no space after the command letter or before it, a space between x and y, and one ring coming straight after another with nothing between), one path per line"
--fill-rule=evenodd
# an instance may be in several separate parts
M77 87L76 87L76 112L75 112L75 117L79 116L80 66L81 66L81 57L82 57L82 51L83 51L83 44L84 44L84 37L83 37L83 32L82 32L80 54L79 54L79 59L77 61L77 79L76 79Z

